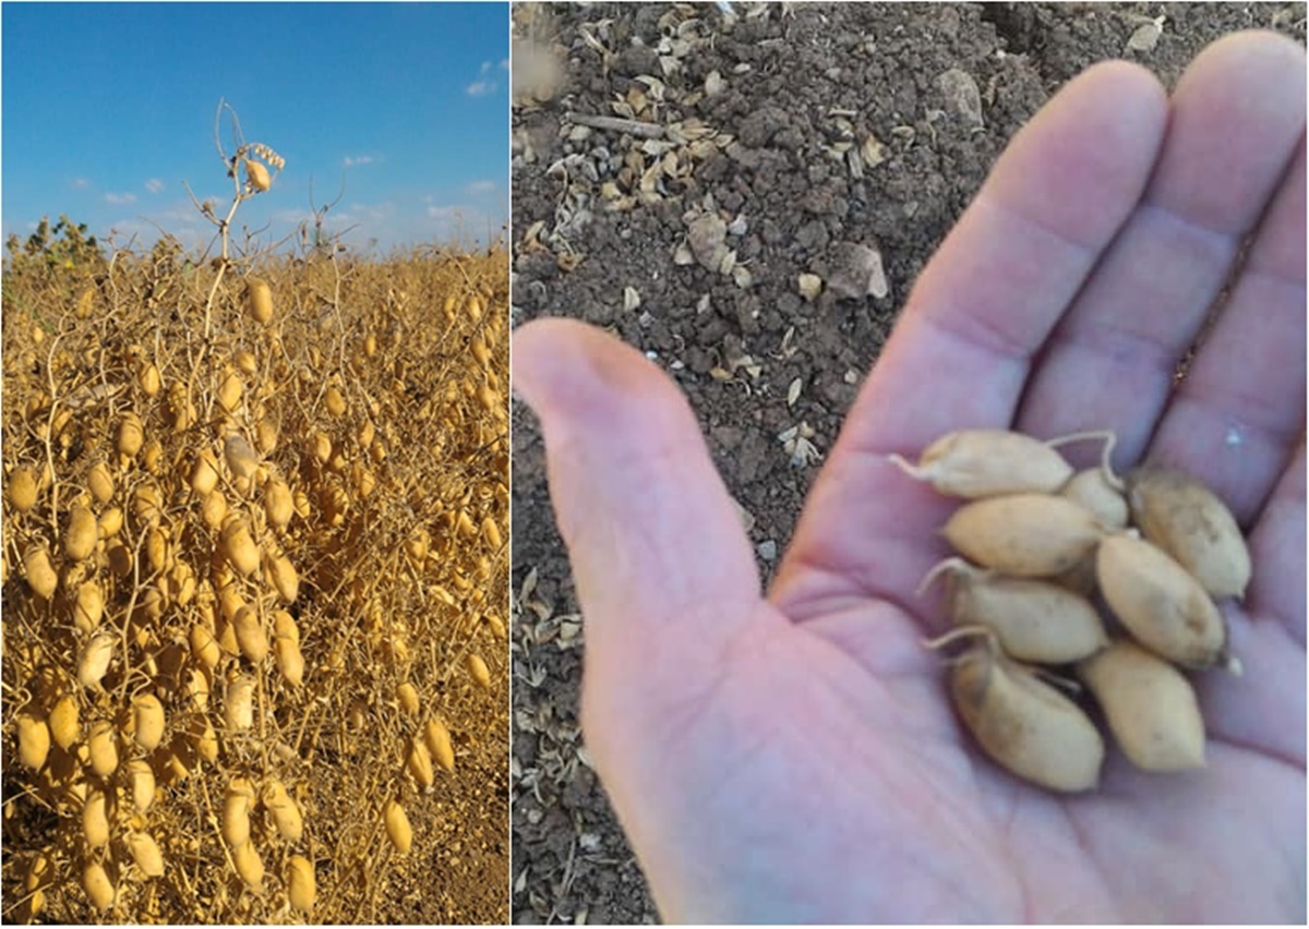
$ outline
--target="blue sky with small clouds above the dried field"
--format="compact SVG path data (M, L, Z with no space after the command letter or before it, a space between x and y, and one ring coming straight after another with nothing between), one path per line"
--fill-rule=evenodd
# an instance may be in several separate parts
M346 195L325 229L391 246L479 242L509 213L509 20L501 3L5 3L3 232L60 213L99 237L187 247L213 226L186 194L232 181L223 98L247 143L287 160L236 215L280 238ZM223 141L232 152L230 118ZM459 233L462 220L462 237Z

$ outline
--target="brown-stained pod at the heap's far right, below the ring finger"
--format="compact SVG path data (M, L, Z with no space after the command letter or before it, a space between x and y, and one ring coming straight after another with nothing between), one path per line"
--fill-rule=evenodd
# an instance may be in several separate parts
M1216 598L1244 597L1250 550L1236 517L1213 491L1183 471L1145 464L1127 474L1136 527Z

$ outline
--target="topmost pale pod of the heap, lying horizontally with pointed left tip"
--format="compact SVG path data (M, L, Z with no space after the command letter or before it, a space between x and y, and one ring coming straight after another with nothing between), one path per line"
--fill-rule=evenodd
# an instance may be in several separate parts
M1072 466L1051 446L1005 429L959 429L941 436L923 450L918 464L899 455L890 459L937 492L969 500L1052 493L1072 476Z

